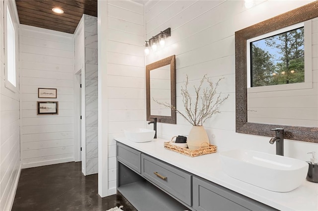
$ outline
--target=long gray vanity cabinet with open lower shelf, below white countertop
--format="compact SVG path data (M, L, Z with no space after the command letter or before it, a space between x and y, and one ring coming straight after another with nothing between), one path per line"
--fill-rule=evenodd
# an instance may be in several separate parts
M116 148L117 190L139 211L276 211L119 142Z

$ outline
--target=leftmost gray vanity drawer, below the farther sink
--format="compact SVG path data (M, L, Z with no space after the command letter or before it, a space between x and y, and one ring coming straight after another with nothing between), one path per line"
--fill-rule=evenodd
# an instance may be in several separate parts
M141 173L141 152L117 142L116 158L127 167Z

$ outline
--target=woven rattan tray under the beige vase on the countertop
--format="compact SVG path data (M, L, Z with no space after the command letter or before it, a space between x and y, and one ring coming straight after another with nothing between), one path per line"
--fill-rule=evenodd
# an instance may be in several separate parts
M209 147L204 147L207 145L209 145ZM186 156L190 156L190 157L203 156L203 155L217 152L217 146L208 144L207 142L202 143L200 148L197 150L190 150L189 148L181 148L181 147L172 145L171 142L164 142L163 146L167 150L172 150L174 152L177 152Z

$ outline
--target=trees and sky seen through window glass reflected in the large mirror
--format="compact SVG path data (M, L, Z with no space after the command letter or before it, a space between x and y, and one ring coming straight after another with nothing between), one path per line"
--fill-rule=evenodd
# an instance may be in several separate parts
M252 87L305 81L304 27L250 45Z

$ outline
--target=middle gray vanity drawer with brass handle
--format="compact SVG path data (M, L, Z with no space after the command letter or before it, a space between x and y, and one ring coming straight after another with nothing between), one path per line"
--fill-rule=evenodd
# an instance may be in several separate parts
M191 174L142 154L142 175L175 198L191 206Z

